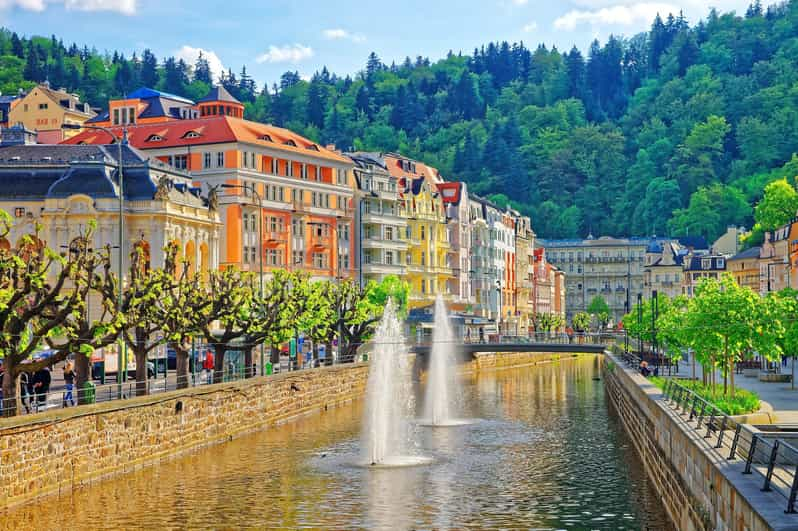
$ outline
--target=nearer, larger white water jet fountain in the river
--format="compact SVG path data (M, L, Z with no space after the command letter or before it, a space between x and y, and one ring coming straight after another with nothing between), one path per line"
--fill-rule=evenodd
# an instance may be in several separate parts
M414 401L407 352L402 325L393 302L389 301L374 336L366 385L363 446L369 466L416 466L431 462L410 453L407 419Z

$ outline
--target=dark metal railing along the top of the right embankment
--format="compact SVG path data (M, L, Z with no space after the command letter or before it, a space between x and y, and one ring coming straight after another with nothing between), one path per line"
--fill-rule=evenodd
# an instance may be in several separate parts
M674 379L666 380L663 392L666 404L688 426L716 450L728 451L727 460L744 460L742 473L756 474L762 481L762 491L784 497L785 513L798 512L798 449L795 446L784 439L752 431Z

